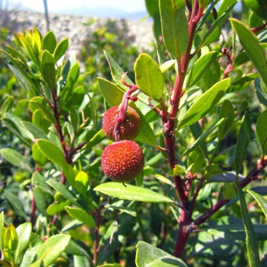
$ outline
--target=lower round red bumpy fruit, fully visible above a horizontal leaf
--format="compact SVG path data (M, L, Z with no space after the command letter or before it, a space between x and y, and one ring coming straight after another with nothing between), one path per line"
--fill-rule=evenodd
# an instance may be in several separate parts
M115 182L136 178L143 170L145 157L141 147L133 141L118 141L107 146L102 154L103 172Z

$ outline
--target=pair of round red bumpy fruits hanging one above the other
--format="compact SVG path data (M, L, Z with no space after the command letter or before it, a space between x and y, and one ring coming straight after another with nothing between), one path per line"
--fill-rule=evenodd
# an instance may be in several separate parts
M109 109L103 116L105 136L115 141L113 131L117 123L118 106ZM142 148L134 140L141 129L141 118L135 109L128 107L120 127L121 141L108 145L102 154L103 172L113 181L126 182L136 178L143 170L145 157Z

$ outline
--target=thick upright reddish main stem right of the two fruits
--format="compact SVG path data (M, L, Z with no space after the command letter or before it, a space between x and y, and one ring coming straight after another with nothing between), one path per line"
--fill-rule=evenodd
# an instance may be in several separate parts
M187 45L186 51L182 55L182 58L177 58L178 75L175 79L175 84L174 84L172 97L171 97L170 116L167 120L165 119L162 120L163 122L166 121L163 124L163 131L164 131L165 147L167 150L168 161L169 161L171 170L174 169L175 164L177 162L177 159L175 156L175 137L174 137L175 119L177 117L177 113L179 109L180 98L183 95L183 84L184 84L188 64L191 59L190 52L191 52L191 48L192 48L192 44L194 40L196 25L201 19L202 15L203 15L203 9L199 8L198 1L194 1L194 6L192 9L192 12L190 12L190 19L188 22L188 33L189 33L188 45ZM189 183L188 187L185 189L183 186L182 178L180 176L174 176L174 182L175 182L175 187L180 197L181 203L183 207L185 208L181 210L179 228L178 228L178 233L177 233L177 240L176 240L176 245L175 245L175 250L174 250L175 256L182 257L185 245L187 243L188 235L189 235L187 231L187 227L191 223L191 215L192 215L192 209L190 208L191 203L188 200L188 196L186 195L185 190L190 190L191 184Z

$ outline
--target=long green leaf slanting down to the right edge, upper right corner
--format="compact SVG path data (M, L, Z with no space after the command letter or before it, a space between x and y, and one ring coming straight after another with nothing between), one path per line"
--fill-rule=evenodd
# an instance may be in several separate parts
M242 22L237 19L229 19L233 29L236 31L239 41L248 57L255 65L263 82L267 85L267 61L262 48L260 47L257 37L253 32Z

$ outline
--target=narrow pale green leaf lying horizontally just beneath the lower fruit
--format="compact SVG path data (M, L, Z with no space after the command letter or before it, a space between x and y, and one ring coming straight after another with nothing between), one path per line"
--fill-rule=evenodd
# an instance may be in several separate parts
M122 183L109 182L98 185L93 190L130 201L173 203L172 199L167 196L156 193L147 188L129 184L125 187Z

